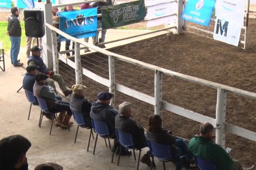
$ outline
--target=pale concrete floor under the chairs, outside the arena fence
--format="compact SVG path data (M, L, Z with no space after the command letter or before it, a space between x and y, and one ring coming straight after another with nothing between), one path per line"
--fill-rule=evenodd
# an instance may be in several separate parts
M121 32L115 32L117 31L109 31L106 39L111 36L117 38L117 35L121 35ZM10 64L9 51L5 52L6 71L0 71L0 138L20 134L31 141L32 146L27 152L29 169L34 169L36 165L46 161L56 162L63 166L64 169L70 170L136 169L137 162L134 160L133 155L121 157L120 166L117 166L118 157L115 154L114 161L111 163L112 152L105 146L103 138L98 138L95 155L93 155L95 139L91 139L91 145L87 152L89 130L80 128L75 144L76 125L71 127L70 132L53 126L52 135L49 135L51 121L44 117L42 127L39 128L38 126L39 107L32 106L30 120L28 120L30 103L27 101L23 89L17 93L17 90L22 86L22 74L25 73L25 67L27 66L27 58L25 56L25 48L22 47L19 59L24 63L24 66L14 67ZM2 62L0 65L2 65ZM142 155L147 150L148 148L145 148L142 151ZM136 157L138 157L138 151L136 151ZM156 161L156 164L157 169L163 169L161 162ZM167 169L175 169L172 163L167 163L166 165ZM139 169L150 168L140 163Z

